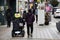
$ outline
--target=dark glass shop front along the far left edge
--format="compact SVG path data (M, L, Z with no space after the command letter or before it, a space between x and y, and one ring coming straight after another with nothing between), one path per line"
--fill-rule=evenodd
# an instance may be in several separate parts
M4 25L5 24L5 16L4 16L4 13L5 13L5 5L4 5L4 0L1 0L0 1L0 25Z

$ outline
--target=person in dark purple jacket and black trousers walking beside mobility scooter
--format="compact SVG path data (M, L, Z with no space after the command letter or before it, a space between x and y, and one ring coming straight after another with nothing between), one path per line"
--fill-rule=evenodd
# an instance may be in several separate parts
M31 35L31 37L32 37L34 20L35 20L34 14L31 12L31 9L29 9L28 13L26 14L26 23L27 23L27 34L28 34L28 37L29 37L29 35ZM30 29L31 29L31 33L30 33Z

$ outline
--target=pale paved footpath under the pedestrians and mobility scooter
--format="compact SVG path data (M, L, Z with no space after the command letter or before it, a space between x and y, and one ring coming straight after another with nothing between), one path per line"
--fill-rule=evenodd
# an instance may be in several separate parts
M27 29L25 25L25 36L22 37L11 37L12 25L10 28L7 28L6 25L0 26L0 40L60 40L60 33L56 29L55 19L52 18L52 21L48 26L39 26L34 22L34 31L33 37L27 37Z

